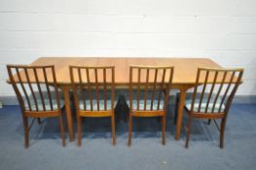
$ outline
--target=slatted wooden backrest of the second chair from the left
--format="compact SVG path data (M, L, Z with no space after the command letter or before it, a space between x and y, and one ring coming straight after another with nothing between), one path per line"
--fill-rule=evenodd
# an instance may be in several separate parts
M69 69L77 111L107 111L114 109L114 66L69 66Z

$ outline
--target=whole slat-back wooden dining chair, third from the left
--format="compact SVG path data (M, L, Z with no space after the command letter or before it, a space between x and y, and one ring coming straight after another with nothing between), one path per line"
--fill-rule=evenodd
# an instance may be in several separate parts
M165 118L173 71L173 67L129 67L128 146L131 145L133 117L162 118L162 143L165 145Z

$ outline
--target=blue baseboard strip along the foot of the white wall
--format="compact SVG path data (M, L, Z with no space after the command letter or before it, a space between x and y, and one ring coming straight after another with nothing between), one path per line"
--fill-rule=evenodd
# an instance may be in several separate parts
M170 94L170 103L175 103L175 94ZM0 96L0 102L3 105L18 105L18 100L16 96ZM233 103L236 104L255 104L256 103L256 95L237 95L234 98Z

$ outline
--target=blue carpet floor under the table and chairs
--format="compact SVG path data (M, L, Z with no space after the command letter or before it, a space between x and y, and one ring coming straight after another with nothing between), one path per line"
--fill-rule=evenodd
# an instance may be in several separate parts
M131 147L127 145L127 123L116 124L117 145L113 147L110 119L84 119L81 148L77 141L68 140L67 133L62 148L57 119L44 119L41 125L33 125L26 150L19 108L5 106L0 109L0 169L256 169L256 105L232 106L223 150L214 123L207 125L203 120L194 121L188 150L184 148L184 130L181 139L174 140L173 108L169 105L165 146L157 119L134 120Z

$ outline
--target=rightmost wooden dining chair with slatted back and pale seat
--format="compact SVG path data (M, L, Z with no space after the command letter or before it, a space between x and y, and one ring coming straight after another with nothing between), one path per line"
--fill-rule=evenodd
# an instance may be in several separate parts
M189 147L193 119L213 119L220 131L220 148L224 147L224 131L228 113L241 84L243 69L199 68L192 97L186 99L188 111L185 148ZM216 119L220 119L220 126Z

